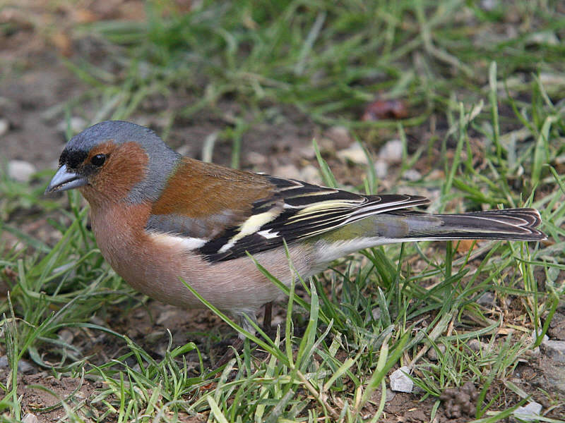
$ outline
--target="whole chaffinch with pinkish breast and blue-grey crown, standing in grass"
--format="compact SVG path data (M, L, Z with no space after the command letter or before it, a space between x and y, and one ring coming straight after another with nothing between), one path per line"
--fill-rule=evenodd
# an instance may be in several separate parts
M46 193L78 188L107 262L136 290L201 307L183 281L241 319L280 298L254 259L290 285L367 247L412 240L537 241L535 209L465 214L411 210L416 195L359 195L181 157L152 130L97 123L73 137Z

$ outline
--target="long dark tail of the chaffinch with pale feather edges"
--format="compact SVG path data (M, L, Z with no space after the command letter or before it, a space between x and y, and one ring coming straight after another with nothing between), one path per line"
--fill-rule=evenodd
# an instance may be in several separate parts
M399 212L398 214L403 214ZM405 213L408 238L421 240L492 239L539 241L542 219L536 209L505 209L462 214Z

